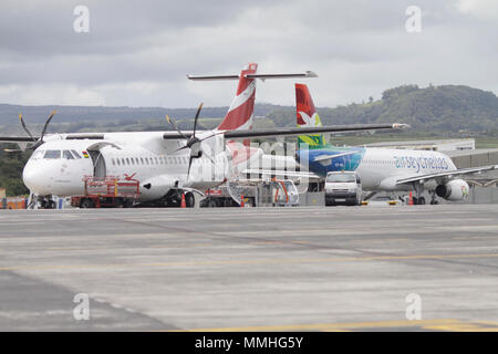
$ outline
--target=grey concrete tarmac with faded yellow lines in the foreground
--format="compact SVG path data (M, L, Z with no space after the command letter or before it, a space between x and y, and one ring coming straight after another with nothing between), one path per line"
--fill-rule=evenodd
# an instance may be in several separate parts
M0 330L497 331L498 206L3 210Z

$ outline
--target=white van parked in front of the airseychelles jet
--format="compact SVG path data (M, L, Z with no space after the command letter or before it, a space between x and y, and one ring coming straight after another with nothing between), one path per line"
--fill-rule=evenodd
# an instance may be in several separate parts
M325 206L357 206L362 201L362 183L355 171L331 171L325 178Z

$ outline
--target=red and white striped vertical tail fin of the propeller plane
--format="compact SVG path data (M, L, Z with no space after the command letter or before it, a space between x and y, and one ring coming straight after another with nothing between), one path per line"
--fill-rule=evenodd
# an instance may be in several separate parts
M240 131L252 128L252 117L256 98L256 79L248 75L256 74L258 64L249 63L242 69L239 76L239 85L227 115L218 126L220 131Z

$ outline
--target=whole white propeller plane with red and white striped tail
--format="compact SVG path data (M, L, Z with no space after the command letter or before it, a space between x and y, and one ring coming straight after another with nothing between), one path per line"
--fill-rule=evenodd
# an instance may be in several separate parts
M302 128L251 129L256 79L313 77L312 72L298 74L259 74L250 63L239 75L188 76L190 80L238 79L236 96L221 124L211 131L181 132L175 121L166 117L175 131L128 133L45 134L55 112L46 121L39 137L22 127L28 137L0 137L0 142L25 144L34 149L23 169L23 181L30 189L30 206L53 205L51 196L74 196L84 192L86 176L117 176L139 180L142 202L157 206L179 205L185 192L186 205L193 207L195 192L216 187L237 175L247 162L257 159L261 149L241 144L253 137L295 136L322 132L392 129L396 124L342 125Z

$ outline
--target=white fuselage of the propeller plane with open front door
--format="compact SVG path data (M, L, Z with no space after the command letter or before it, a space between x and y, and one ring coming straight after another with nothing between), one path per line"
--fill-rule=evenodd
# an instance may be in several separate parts
M160 132L108 133L98 140L54 135L33 153L23 180L38 195L75 196L84 192L85 176L133 178L141 184L144 201L158 199L170 188L203 190L222 184L237 166L235 145L226 145L222 135L201 144L204 154L193 159L187 176L189 149L177 150L185 140L165 140Z

